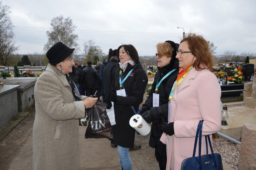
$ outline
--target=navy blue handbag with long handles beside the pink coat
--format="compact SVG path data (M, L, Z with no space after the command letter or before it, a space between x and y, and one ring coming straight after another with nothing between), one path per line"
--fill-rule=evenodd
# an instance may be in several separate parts
M196 130L196 138L195 138L195 144L194 144L194 152L193 157L186 158L182 161L181 170L223 170L222 166L222 159L220 154L213 153L212 150L212 144L210 140L210 135L205 136L206 141L206 155L201 156L201 143L202 143L202 126L203 121L200 121L198 123L198 127ZM197 157L195 157L196 154L196 144L199 136L199 154ZM208 154L208 144L207 144L207 138L209 141L210 149L212 154Z

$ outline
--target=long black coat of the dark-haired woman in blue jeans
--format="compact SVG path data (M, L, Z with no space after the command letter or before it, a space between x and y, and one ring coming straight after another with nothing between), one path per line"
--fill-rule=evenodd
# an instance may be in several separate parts
M140 103L143 101L144 90L148 83L148 77L140 63L130 65L128 63L126 70L123 73L123 78L134 69L132 73L124 81L124 89L128 97L117 96L117 101L114 103L114 112L116 125L114 130L115 143L125 148L134 147L135 130L129 124L130 118L134 115L131 105L138 111ZM118 68L115 72L111 90L116 92L120 90Z

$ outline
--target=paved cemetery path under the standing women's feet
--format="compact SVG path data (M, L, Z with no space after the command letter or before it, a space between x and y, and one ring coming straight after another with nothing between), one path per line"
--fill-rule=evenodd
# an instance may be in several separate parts
M15 133L17 133L15 132L15 129L22 129L22 126L24 125L20 122L25 120L27 115L28 112L19 113L15 119L10 121L6 126L0 128L0 140L5 140L4 138L11 138L14 136ZM34 115L30 114L29 117L31 119ZM16 128L12 130L14 127ZM8 162L8 170L32 170L32 127L33 119L30 120L29 127L26 127L25 129L28 137L22 140L22 144L20 144L21 147L17 151L17 154L13 155L13 158ZM11 130L12 132L10 132ZM110 141L106 138L85 139L85 131L86 127L79 128L80 170L121 170L117 148L111 148ZM148 146L148 136L136 135L135 143L141 144L142 148L130 152L132 169L159 170L158 162L154 156L154 149ZM12 151L10 150L10 152ZM224 170L232 170L232 168L225 163L223 166ZM0 170L2 170L1 166Z

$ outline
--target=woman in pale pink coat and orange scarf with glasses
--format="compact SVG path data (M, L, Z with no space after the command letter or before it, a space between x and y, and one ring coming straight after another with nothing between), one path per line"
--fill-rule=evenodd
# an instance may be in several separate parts
M180 71L169 96L169 123L162 128L164 133L160 138L166 144L166 170L180 170L182 161L192 157L200 120L204 120L203 135L216 133L221 126L221 89L211 72L213 56L207 41L202 36L188 34L180 42L176 58ZM205 138L202 146L206 146ZM201 154L206 154L205 147Z

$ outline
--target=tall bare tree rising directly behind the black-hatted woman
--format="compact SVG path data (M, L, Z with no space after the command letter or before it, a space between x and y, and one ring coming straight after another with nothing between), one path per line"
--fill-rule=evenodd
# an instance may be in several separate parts
M50 26L50 31L46 32L48 42L44 45L45 52L56 42L62 42L70 48L76 48L76 52L79 51L79 45L76 43L78 34L74 34L76 26L70 17L57 16L52 19Z

